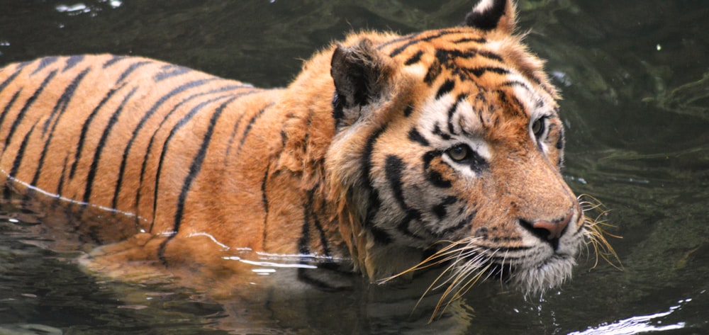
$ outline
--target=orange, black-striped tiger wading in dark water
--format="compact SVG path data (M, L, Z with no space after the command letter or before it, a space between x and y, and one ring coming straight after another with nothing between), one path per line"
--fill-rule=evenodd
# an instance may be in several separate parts
M372 283L447 264L452 286L544 291L606 242L564 181L559 93L515 15L481 0L459 26L350 33L274 89L143 57L8 64L3 183L130 217L91 230L164 266L216 244Z

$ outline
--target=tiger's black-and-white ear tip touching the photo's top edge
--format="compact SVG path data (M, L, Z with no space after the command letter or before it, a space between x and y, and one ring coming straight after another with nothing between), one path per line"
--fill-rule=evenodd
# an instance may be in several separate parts
M465 16L465 25L480 30L515 30L515 4L512 0L480 0Z

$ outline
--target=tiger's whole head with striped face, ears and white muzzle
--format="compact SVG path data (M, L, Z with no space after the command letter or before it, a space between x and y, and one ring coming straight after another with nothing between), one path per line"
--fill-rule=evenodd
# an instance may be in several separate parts
M326 166L370 279L442 261L527 293L570 276L590 233L560 172L557 91L514 25L512 1L483 0L459 27L333 47Z

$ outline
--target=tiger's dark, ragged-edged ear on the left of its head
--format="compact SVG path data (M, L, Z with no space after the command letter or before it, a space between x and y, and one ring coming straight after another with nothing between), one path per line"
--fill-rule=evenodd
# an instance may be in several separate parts
M330 62L330 75L335 82L333 116L337 125L354 123L362 107L381 98L392 72L391 59L381 55L367 38L351 47L337 45Z

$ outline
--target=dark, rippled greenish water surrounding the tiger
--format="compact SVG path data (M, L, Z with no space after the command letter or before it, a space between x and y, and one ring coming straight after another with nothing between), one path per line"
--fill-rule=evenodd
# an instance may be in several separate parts
M454 25L468 2L0 0L0 65L113 52L283 86L300 59L350 29ZM527 43L564 96L564 174L610 209L623 271L582 257L573 280L526 300L485 283L428 324L437 296L413 307L432 274L386 287L345 276L335 278L344 290L325 292L295 280L312 270L261 263L232 297L207 297L160 276L86 273L81 251L48 249L39 223L49 214L6 199L0 334L709 333L709 6L530 0L520 9Z

